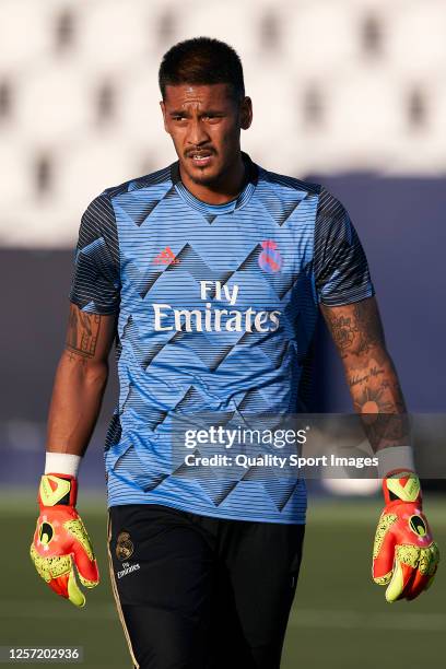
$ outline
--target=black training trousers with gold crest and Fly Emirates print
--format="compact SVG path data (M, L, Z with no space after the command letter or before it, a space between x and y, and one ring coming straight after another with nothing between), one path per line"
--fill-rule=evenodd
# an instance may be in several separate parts
M113 506L111 585L136 667L278 669L304 525Z

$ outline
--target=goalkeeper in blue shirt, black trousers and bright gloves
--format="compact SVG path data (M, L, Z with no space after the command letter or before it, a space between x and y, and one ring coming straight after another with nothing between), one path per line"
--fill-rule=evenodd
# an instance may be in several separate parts
M305 411L319 310L357 412L399 415L404 403L345 209L240 151L253 109L236 52L211 38L177 44L160 86L177 162L107 188L82 218L32 558L78 606L74 565L82 584L98 582L77 473L116 338L108 542L133 664L274 669L300 571L304 481L178 465L175 421ZM389 601L415 597L437 562L409 445L396 443L399 468L389 453L382 461L374 548Z

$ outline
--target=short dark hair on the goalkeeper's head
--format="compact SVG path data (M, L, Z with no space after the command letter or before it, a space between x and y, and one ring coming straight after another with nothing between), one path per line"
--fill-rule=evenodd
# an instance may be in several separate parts
M159 72L163 99L167 85L230 84L234 96L245 95L243 67L238 54L228 44L212 37L178 42L164 54Z

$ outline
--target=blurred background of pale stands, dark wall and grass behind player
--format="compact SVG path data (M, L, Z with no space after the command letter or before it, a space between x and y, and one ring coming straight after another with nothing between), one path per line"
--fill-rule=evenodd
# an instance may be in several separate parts
M81 474L105 582L87 611L51 598L27 543L80 216L105 187L175 160L157 67L173 43L202 34L244 62L255 109L244 149L267 168L322 183L349 209L410 410L445 411L444 0L0 0L0 645L78 643L85 666L128 666L103 545L114 376ZM314 409L350 411L324 328L317 351ZM446 545L444 484L424 485ZM285 669L438 661L442 573L429 596L389 609L368 572L379 501L321 493L310 495Z

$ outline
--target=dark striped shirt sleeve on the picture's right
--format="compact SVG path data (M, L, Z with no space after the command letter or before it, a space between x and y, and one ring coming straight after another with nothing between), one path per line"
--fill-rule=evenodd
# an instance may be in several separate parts
M318 302L340 306L372 297L367 259L350 216L322 188L315 222L314 280Z

